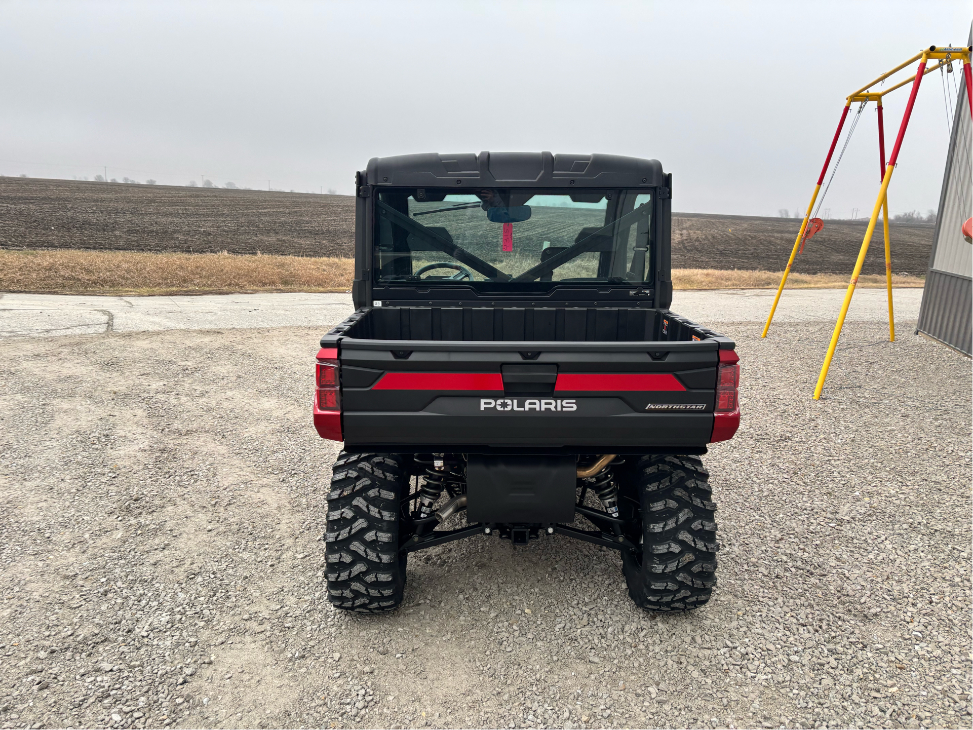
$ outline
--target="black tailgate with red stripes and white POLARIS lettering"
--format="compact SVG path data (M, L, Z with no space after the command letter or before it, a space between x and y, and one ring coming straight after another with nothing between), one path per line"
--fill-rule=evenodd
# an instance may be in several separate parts
M701 453L719 347L342 338L345 446Z

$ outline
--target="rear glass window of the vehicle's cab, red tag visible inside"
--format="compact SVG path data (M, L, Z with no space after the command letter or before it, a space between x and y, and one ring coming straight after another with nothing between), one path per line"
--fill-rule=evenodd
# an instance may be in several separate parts
M380 191L379 283L642 284L651 272L653 196L645 190L485 188Z

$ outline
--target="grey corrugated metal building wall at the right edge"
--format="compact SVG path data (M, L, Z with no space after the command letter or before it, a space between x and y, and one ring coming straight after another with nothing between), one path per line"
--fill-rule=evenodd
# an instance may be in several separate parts
M973 213L973 124L966 82L962 75L959 78L950 153L916 331L969 355L973 352L973 245L963 238L961 227Z

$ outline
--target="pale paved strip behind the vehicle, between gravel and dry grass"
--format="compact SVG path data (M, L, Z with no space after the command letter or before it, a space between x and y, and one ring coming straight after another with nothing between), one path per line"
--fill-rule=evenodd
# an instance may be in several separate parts
M764 322L775 291L678 291L672 310L703 325ZM775 322L833 322L844 289L785 291ZM919 317L921 289L896 289L895 318ZM178 297L97 297L0 294L0 338L103 332L320 326L331 329L353 311L350 294L221 294ZM885 291L855 292L847 321L887 318Z

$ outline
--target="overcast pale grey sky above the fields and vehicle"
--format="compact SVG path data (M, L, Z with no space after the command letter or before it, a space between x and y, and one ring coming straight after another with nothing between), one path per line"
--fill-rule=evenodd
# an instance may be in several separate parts
M368 159L550 150L657 158L676 210L803 209L844 97L968 0L0 3L0 173L353 191ZM908 89L885 101L890 149ZM955 98L950 103L955 104ZM867 215L874 105L828 194ZM925 77L889 191L935 208L949 129Z

